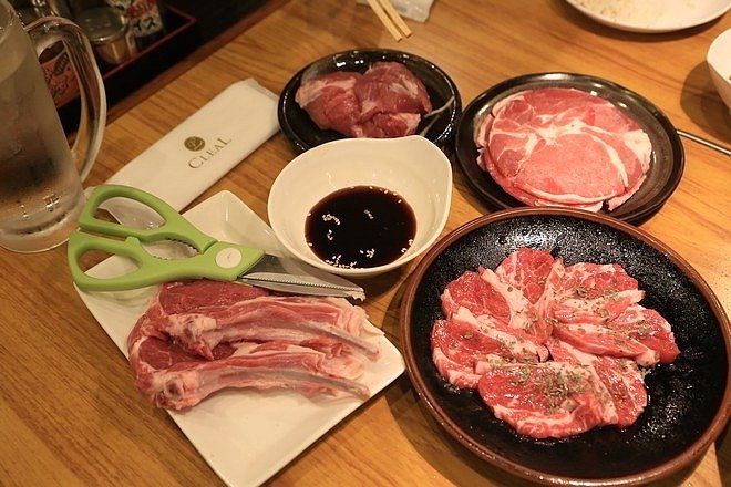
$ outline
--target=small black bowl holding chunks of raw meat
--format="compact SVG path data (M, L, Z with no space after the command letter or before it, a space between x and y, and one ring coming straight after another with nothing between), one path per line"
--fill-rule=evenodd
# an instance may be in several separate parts
M452 79L435 64L414 54L387 49L358 49L321 58L302 68L285 85L279 96L277 116L281 131L291 143L295 153L300 154L326 142L346 138L346 135L338 132L320 129L297 104L295 94L302 82L302 75L333 71L362 73L377 61L394 61L409 68L424 83L434 110L453 100L446 110L434 115L436 120L433 117L423 120L416 128L416 134L423 135L442 151L446 153L452 151L456 123L462 114L462 100Z

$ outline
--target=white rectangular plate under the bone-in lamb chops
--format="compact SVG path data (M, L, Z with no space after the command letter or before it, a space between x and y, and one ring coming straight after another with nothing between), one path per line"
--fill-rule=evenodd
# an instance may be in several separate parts
M282 255L271 229L231 193L212 196L186 213L186 217L220 240ZM124 259L110 257L90 272L110 277L127 266ZM154 288L107 293L78 290L124 356L127 356L127 335L155 291ZM380 344L382 358L375 363L367 362L359 381L375 395L403 373L404 363L385 336L373 335L372 340ZM267 480L362 404L363 401L352 397L306 397L286 390L227 390L189 410L168 413L216 474L226 484L239 487Z

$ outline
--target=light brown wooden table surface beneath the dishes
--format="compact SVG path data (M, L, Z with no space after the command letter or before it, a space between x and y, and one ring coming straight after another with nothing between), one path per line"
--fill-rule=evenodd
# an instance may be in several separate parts
M425 23L397 43L353 1L279 1L229 32L222 49L164 76L110 122L87 183L104 182L230 83L255 77L275 93L305 64L353 48L395 48L445 70L466 105L505 79L569 71L622 84L682 128L731 143L731 123L704 63L731 15L690 30L632 34L599 25L559 0L436 1ZM178 76L179 74L179 76ZM157 87L161 83L155 85ZM147 96L150 94L150 96ZM128 105L132 105L130 103ZM245 116L245 114L243 114ZM683 141L686 172L667 205L641 228L684 257L731 311L731 159ZM294 156L275 135L198 201L235 193L266 220L268 188ZM444 232L490 209L454 170ZM135 390L123 355L74 291L65 247L0 251L0 484L219 485L164 411ZM403 272L362 282L371 320L397 344ZM431 418L405 374L291 462L271 485L519 485L478 460ZM731 439L662 485L731 483Z

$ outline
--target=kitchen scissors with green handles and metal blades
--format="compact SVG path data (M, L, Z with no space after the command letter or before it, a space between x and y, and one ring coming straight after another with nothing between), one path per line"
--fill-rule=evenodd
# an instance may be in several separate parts
M151 208L163 219L162 225L136 228L97 218L100 208L112 198L127 198ZM195 255L166 259L145 248L165 240L185 244ZM126 257L135 262L136 269L110 278L92 276L79 263L90 251ZM303 294L364 298L362 288L344 279L309 269L302 271L305 265L292 266L292 259L206 235L161 198L123 185L101 185L89 195L79 230L69 238L68 260L71 276L83 291L122 291L178 279L206 278ZM297 273L287 272L292 267Z

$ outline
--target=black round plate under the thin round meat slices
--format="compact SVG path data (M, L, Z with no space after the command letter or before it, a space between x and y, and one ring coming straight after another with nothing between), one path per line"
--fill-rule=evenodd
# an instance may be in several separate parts
M513 198L477 166L474 133L496 102L513 93L540 87L573 87L596 93L635 120L652 143L652 158L647 179L629 200L606 211L620 220L639 224L657 213L672 195L682 177L684 153L676 128L651 102L616 83L595 76L570 73L526 74L506 80L483 92L464 110L457 124L455 153L460 167L477 194L493 209L525 206Z

